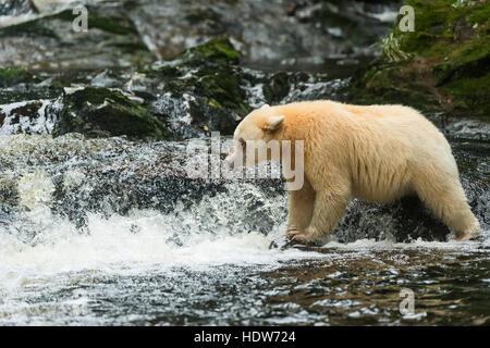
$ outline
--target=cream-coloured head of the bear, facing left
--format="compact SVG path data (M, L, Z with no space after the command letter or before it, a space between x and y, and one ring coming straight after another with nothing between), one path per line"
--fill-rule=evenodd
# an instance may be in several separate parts
M281 127L285 116L275 107L264 105L250 112L238 124L233 135L233 149L226 158L230 167L243 166L281 157ZM242 158L242 161L240 161Z

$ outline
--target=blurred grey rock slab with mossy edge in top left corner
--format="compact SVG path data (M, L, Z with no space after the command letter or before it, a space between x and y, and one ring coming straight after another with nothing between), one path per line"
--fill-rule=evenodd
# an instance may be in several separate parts
M122 4L88 7L88 32L72 27L72 10L0 28L1 65L32 70L138 66L154 60Z

